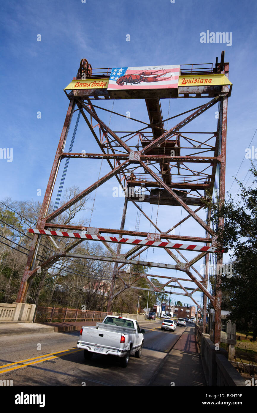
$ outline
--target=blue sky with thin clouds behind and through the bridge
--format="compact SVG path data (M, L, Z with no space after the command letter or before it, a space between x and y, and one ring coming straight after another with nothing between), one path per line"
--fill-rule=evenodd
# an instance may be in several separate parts
M222 50L225 50L225 62L230 63L229 79L233 83L228 103L228 190L257 127L256 12L257 3L252 0L246 3L238 0L217 0L215 3L205 0L175 0L174 3L170 0L2 2L0 147L13 148L13 161L0 159L0 198L38 199L38 188L44 194L68 107L63 89L76 76L81 58L87 58L93 67L215 63ZM200 43L200 33L207 30L231 32L232 45ZM37 41L38 34L41 34L41 42ZM126 41L127 34L130 34L130 42ZM172 100L170 116L203 101ZM110 106L106 107L110 109ZM166 115L168 103L163 102L162 108ZM124 114L130 111L132 117L146 119L146 111L139 101L116 101L113 110ZM38 111L42 113L41 119L37 119ZM109 115L104 113L102 119L108 123ZM111 122L115 121L112 119ZM171 127L173 123L170 122ZM257 135L251 145L256 145L256 139ZM93 151L95 147L89 132L80 123L74 151L87 149L89 152L89 148ZM249 160L244 159L239 179L245 178L249 166ZM88 161L85 167L83 160L71 160L65 185L77 184L81 189L85 188L97 179L99 167L100 161ZM101 175L108 171L106 162ZM248 177L249 174L246 180ZM118 228L123 206L122 200L118 205L113 204L114 185L116 181L113 179L99 188L91 225ZM233 183L233 196L236 190L237 185ZM145 206L150 215L151 208ZM165 211L160 207L158 214L158 224L163 229L167 229ZM153 216L156 217L156 213L154 207ZM179 221L180 213L178 208L177 216L170 217L169 227ZM183 211L182 218L184 216ZM205 214L202 217L205 218ZM134 229L134 221L135 210L129 211L125 227ZM149 230L148 225L141 218L140 230ZM181 226L180 231L184 235L194 233L194 223ZM155 251L149 253L148 259L167 261L166 255L160 253L157 256ZM158 272L152 269L151 273ZM200 294L197 295L200 300ZM179 297L173 295L172 299ZM190 302L190 299L182 297L181 301Z

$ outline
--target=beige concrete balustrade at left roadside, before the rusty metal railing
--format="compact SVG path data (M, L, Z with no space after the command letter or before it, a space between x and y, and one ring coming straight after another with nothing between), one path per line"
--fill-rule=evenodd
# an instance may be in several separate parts
M0 303L0 322L6 321L33 321L35 304Z

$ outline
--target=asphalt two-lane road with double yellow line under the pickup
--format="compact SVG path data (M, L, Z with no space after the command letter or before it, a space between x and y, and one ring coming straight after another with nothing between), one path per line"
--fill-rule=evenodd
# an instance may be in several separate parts
M0 380L13 386L147 386L185 330L161 331L161 323L144 325L142 356L131 356L127 368L114 356L85 360L76 347L77 331L1 337Z

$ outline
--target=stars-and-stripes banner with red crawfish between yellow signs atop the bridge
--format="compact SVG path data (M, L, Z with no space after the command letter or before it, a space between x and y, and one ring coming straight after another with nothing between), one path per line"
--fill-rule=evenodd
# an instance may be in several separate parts
M108 90L177 88L179 65L115 67L111 70Z

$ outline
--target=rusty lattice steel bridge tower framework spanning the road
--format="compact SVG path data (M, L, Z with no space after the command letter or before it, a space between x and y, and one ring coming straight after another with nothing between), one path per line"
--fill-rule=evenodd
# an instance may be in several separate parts
M227 76L229 63L224 63L224 55L222 59L219 64L216 61L215 68L205 65L189 65L189 67L181 66L181 69L184 74L212 74L215 72L216 74L225 74ZM104 71L103 69L93 69L92 77L96 77L99 73L101 73L101 76L108 77L110 70L108 69L107 71ZM81 74L78 74L77 76L81 76ZM227 85L215 86L209 89L207 87L199 88L199 86L191 88L184 86L179 88L179 98L205 97L209 100L207 103L202 104L195 109L184 112L186 117L167 131L164 126L164 122L167 121L167 119L163 119L158 96L146 98L143 101L146 103L149 123L141 122L144 124L144 127L137 131L130 131L130 133L115 133L100 119L99 114L97 113L97 110L99 111L100 109L111 112L112 116L120 116L121 118L126 117L117 112L113 112L111 109L104 109L94 104L94 101L99 98L104 98L105 100L109 99L105 90L75 90L66 93L70 100L68 111L42 202L38 223L34 230L31 229L31 232L34 232L34 237L17 302L26 300L28 283L37 273L35 260L40 237L47 237L51 246L54 248L54 253L40 264L42 269L49 268L63 256L114 263L107 311L111 310L112 299L127 288L137 288L133 284L140 278L145 278L149 283L148 290L152 291L160 291L160 289L150 280L150 277L152 276L167 279L163 288L171 282L176 282L178 285L177 288L183 290L183 292L171 292L171 294L180 294L190 297L198 308L200 308L199 304L194 300L192 295L196 291L202 291L205 297L203 299L203 308L201 308L201 311L204 314L203 328L205 328L206 300L208 299L215 309L214 340L218 343L220 338L221 315L220 279L217 275L215 295L213 295L208 290L207 272L203 275L200 274L194 267L194 264L203 257L205 257L206 263L209 260L210 254L215 254L215 260L218 265L222 264L223 251L217 251L216 249L215 230L209 225L208 220L203 221L203 219L198 216L197 212L203 208L203 199L207 194L213 193L215 176L217 181L216 189L218 190L216 195L219 196L219 202L224 201L227 98L230 93L231 87L229 88ZM183 128L186 125L189 125L190 122L198 118L198 116L203 116L203 114L215 104L218 104L219 106L217 111L219 114L219 116L217 116L217 130L215 132L197 132L198 136L201 133L200 136L203 137L202 140L199 140L199 138L195 139L195 132L193 131L184 132ZM83 116L93 138L99 145L99 153L64 152L68 129L76 107ZM183 114L172 116L170 119L181 115ZM134 136L138 137L138 144L136 147L131 147L127 142L129 142L129 138ZM208 153L207 156L206 153ZM99 180L96 180L73 199L49 214L48 209L54 183L57 178L61 160L64 158L103 159L108 162L111 171L99 178ZM114 176L117 178L118 183L123 190L127 191L120 228L81 228L75 225L57 225L54 223L54 219L57 218L59 214L66 211L69 207L74 205L80 199L83 199ZM142 187L144 188L145 193L144 199L140 198L139 193L137 192L137 189ZM128 191L128 189L131 188L132 190ZM141 202L166 205L170 209L175 206L182 206L188 215L180 222L173 225L172 228L167 228L167 230L162 231L143 211L143 207L139 207ZM156 230L155 233L140 232L139 230L127 231L124 229L126 211L129 203L134 204L134 206L137 207L137 210L151 222L151 225L153 225ZM196 206L197 208L192 209L193 206ZM205 231L205 237L186 234L171 234L174 228L178 227L188 218L193 218L194 221L200 225L200 230L202 231L203 229ZM218 225L222 226L223 221L221 220ZM49 233L47 231L52 232ZM57 231L60 232L57 233ZM62 236L71 236L71 234L73 234L73 242L68 244L66 249L61 249L58 246L58 239ZM86 236L81 237L83 234ZM56 239L54 240L53 237L56 237ZM112 237L112 239L110 237ZM75 254L72 252L72 249L84 239L91 239L92 242L94 240L102 242L108 251L111 252L111 257ZM142 239L144 242L139 243L139 240ZM127 240L130 240L130 242ZM110 242L116 243L117 248L114 249L113 244L110 244ZM167 244L167 242L169 244ZM194 242L197 242L198 248L194 246ZM132 245L130 245L130 249L127 252L121 254L121 246L124 243L130 243ZM197 251L197 249L199 249L199 244L200 251ZM142 252L146 251L146 249L157 245L157 250L159 248L164 249L169 255L169 259L171 258L173 260L173 264L137 259ZM184 251L182 251L182 249ZM185 250L187 249L190 251L193 251L194 249L196 250L196 256L193 259L186 258ZM178 253L179 258L174 252ZM132 272L131 275L134 276L133 281L127 284L124 280L124 267L128 264L182 271L188 278ZM123 287L114 294L116 278L119 278L122 281ZM185 281L194 282L195 287L184 287L183 283Z

